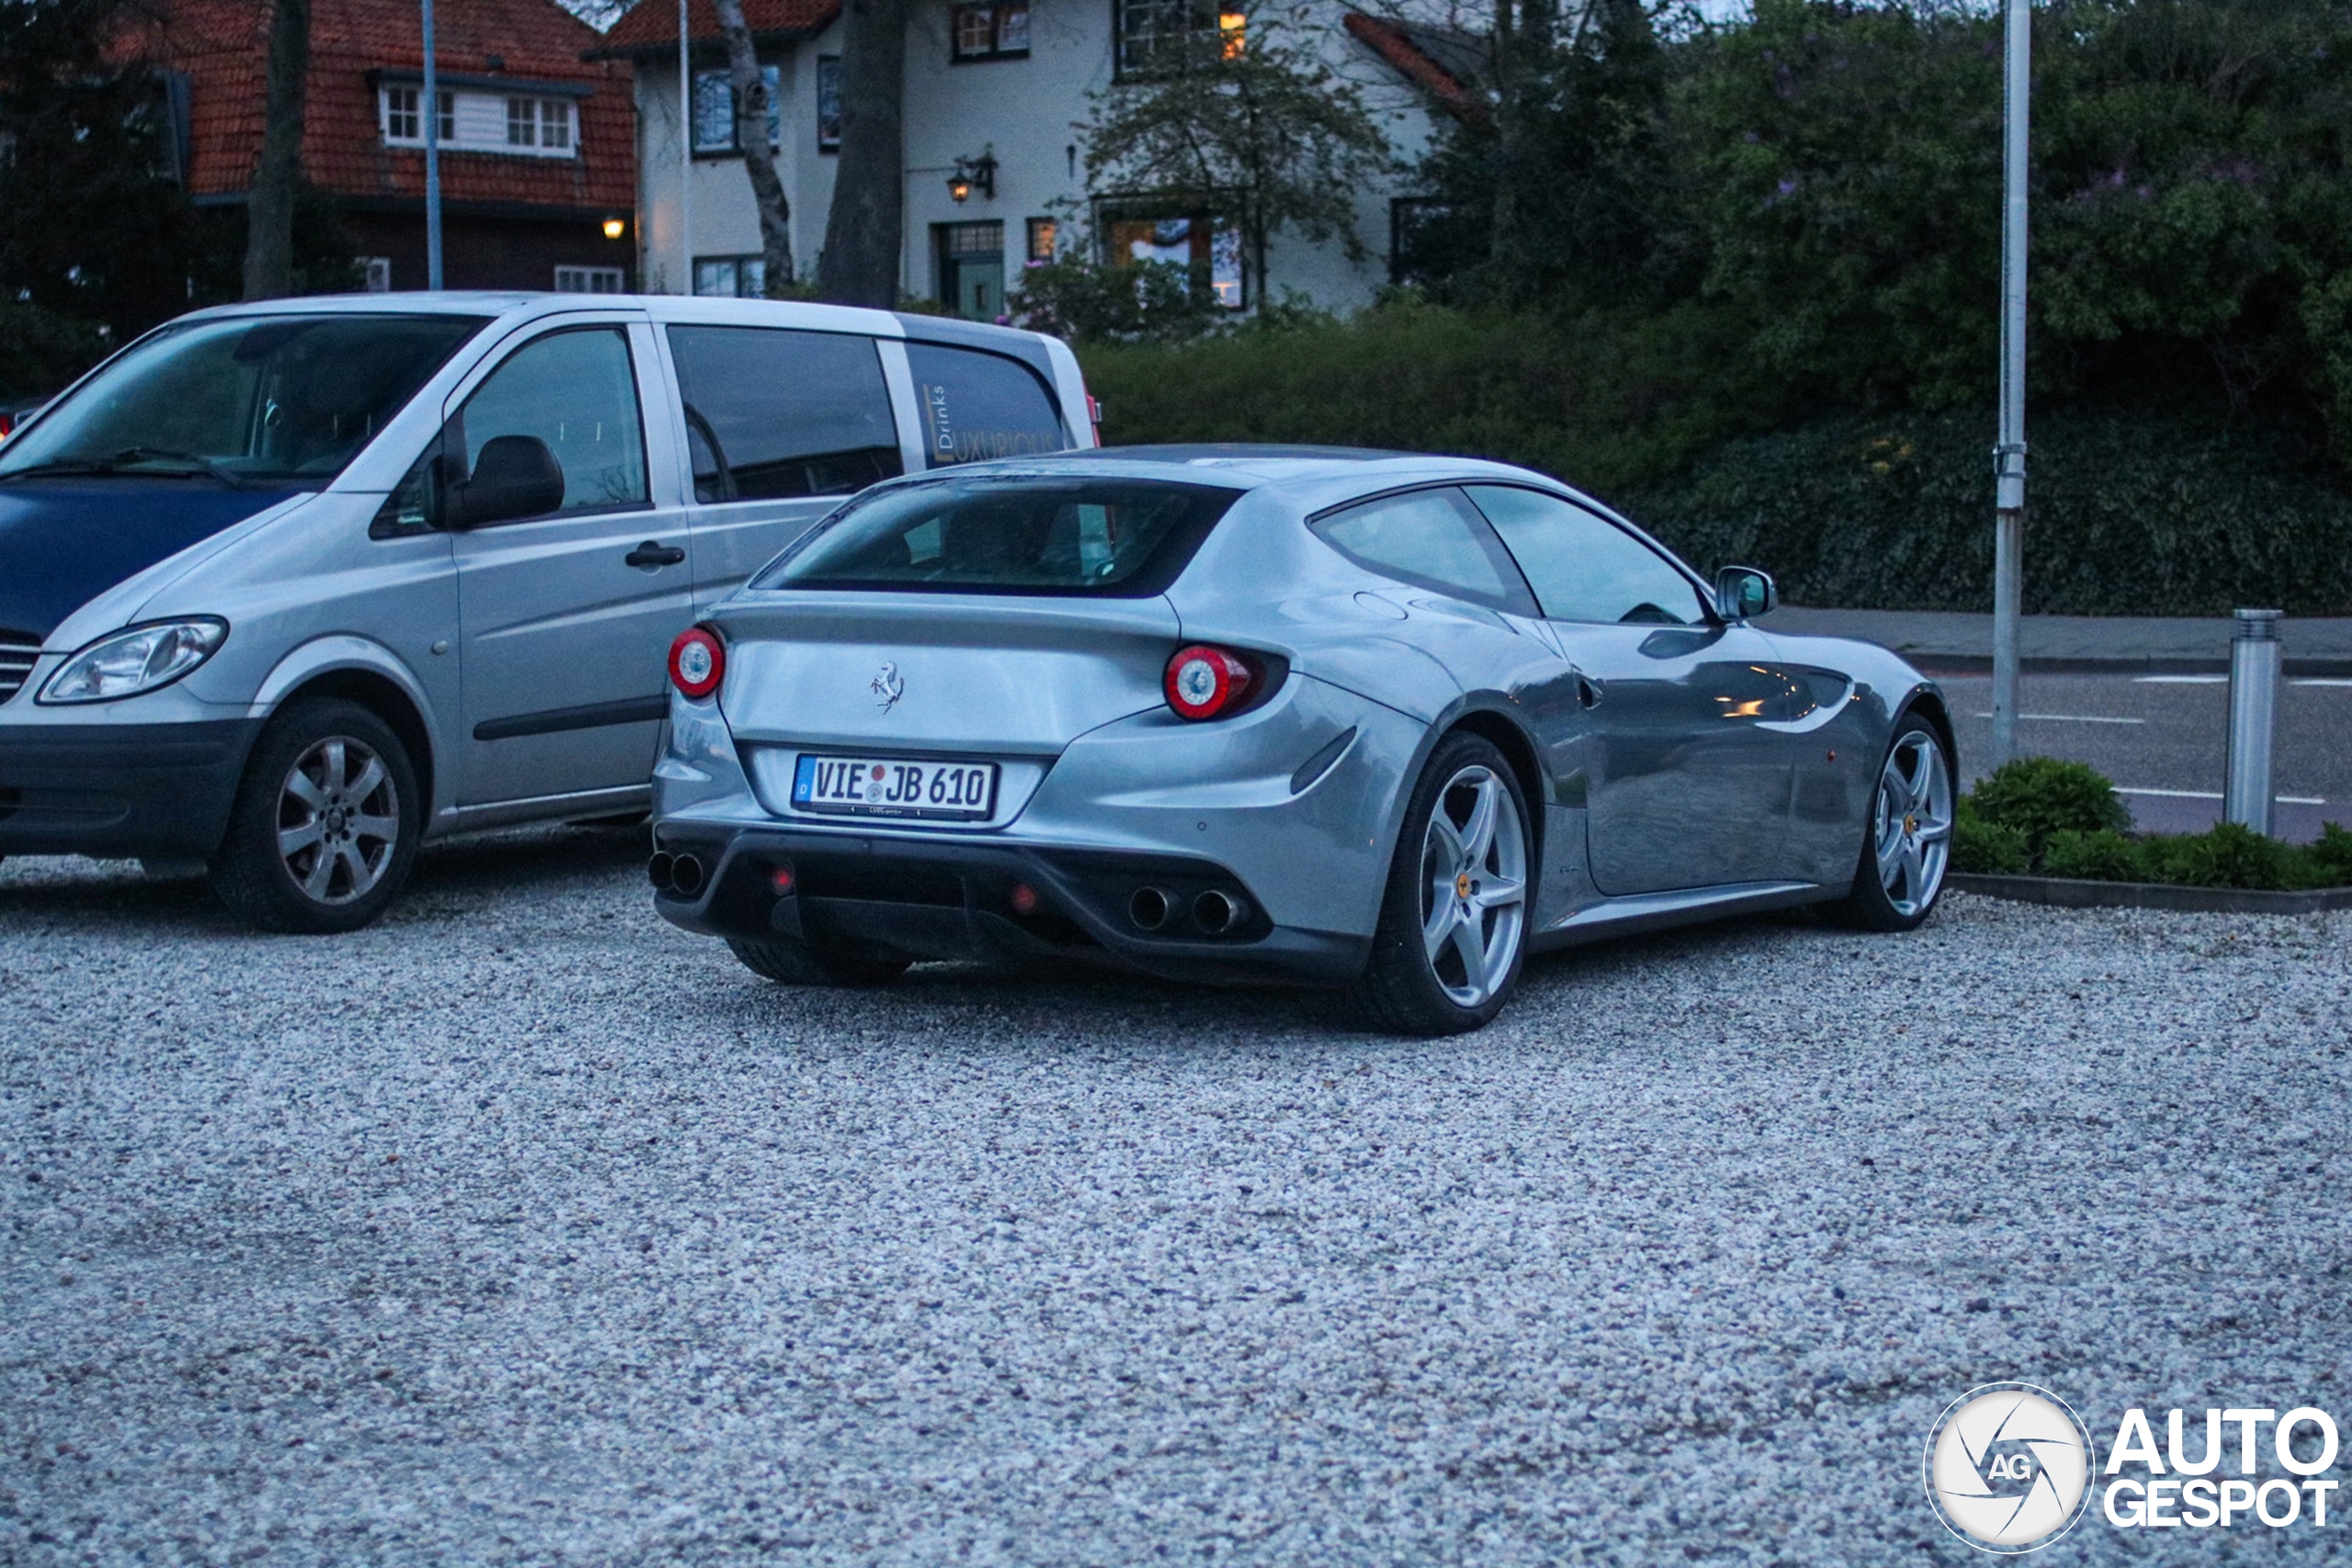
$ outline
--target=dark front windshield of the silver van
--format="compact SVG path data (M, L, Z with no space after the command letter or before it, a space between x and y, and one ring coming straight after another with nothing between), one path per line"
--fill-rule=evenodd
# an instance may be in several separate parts
M134 343L0 447L0 480L205 473L325 484L480 315L240 315Z

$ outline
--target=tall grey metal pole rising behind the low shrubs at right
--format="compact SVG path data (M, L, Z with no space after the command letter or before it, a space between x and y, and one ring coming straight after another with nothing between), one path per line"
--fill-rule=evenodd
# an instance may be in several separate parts
M2006 0L2002 73L2002 435L1992 449L1992 766L2018 755L2018 616L2025 609L2025 158L2032 2Z

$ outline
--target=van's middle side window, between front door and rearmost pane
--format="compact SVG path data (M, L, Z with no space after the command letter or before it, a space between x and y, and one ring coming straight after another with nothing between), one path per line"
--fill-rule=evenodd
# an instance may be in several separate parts
M696 501L847 496L903 468L873 339L670 327L670 357Z

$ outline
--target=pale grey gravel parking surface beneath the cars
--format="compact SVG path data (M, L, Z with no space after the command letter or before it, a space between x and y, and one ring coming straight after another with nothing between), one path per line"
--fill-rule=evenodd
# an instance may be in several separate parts
M1740 922L1425 1044L781 990L637 844L315 943L0 867L0 1561L1962 1563L1976 1382L2352 1403L2352 917Z

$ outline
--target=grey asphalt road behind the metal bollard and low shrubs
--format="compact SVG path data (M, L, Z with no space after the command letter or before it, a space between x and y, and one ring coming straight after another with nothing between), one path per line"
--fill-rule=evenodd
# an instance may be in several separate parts
M1966 780L1992 745L1992 679L1938 677L1952 698ZM2206 675L2027 675L2018 745L2089 762L2124 790L2140 827L2197 832L2220 820L2230 755L2230 684ZM2352 827L2352 679L2288 679L2279 689L2274 832L2312 839L2321 820Z

